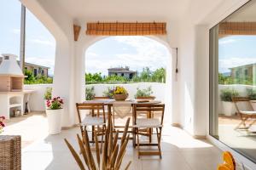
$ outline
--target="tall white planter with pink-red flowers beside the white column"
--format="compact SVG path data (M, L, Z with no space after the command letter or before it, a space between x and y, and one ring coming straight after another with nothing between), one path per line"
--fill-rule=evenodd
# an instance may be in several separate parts
M47 100L47 120L49 134L61 133L61 116L63 113L63 99L60 97Z

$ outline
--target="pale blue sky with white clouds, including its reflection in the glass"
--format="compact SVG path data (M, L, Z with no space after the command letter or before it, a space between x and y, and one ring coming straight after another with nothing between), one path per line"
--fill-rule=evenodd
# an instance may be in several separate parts
M19 56L20 2L0 1L0 54ZM229 72L238 65L256 63L256 36L231 36L219 39L219 71ZM142 71L166 67L169 53L148 37L108 37L91 45L85 54L85 71L107 74L110 67L130 66ZM29 10L26 10L26 62L49 66L53 74L55 39Z

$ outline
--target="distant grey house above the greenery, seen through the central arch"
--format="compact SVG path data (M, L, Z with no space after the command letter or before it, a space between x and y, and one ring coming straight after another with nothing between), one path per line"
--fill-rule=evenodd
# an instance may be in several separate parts
M120 76L120 77L126 77L131 79L134 76L137 76L137 71L130 71L128 66L123 67L117 67L117 68L110 68L108 69L108 76Z

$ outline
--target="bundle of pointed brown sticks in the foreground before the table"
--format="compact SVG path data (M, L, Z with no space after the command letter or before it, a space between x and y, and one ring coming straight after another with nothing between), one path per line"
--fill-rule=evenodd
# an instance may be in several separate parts
M68 149L71 151L75 161L78 163L78 166L81 170L119 170L125 156L126 146L129 141L130 134L127 135L127 130L129 126L130 118L127 119L125 124L125 131L121 139L121 144L118 144L119 131L113 133L113 124L110 122L110 127L107 128L107 131L104 136L104 145L101 155L101 150L99 147L99 142L97 139L97 134L95 135L95 144L96 144L96 161L93 157L92 150L90 150L90 142L88 133L85 130L84 132L84 143L77 134L79 149L81 152L84 161L81 160L81 157L73 149L73 146L64 139ZM131 166L131 161L125 166L125 170L128 170Z

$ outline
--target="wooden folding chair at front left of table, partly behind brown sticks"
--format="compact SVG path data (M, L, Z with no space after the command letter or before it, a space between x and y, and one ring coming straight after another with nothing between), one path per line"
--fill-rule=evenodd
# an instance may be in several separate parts
M82 137L84 139L84 132L86 127L91 127L91 140L90 143L95 142L95 134L102 136L106 132L106 116L103 103L87 104L77 103L77 112L79 116L79 127L81 130ZM82 120L82 111L89 111L84 119ZM101 114L102 112L102 114ZM101 141L102 142L102 141Z

